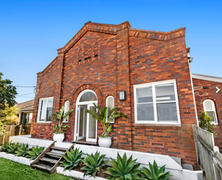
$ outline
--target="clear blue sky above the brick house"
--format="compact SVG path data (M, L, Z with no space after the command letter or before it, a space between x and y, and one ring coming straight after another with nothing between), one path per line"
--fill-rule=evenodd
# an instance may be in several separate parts
M17 86L17 102L34 99L36 73L88 21L129 21L155 31L186 27L192 73L222 77L221 0L0 0L0 72Z

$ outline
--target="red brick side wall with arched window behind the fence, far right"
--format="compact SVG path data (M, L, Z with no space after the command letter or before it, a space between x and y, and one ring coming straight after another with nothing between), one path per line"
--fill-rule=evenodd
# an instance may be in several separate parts
M201 115L202 111L204 111L204 100L211 99L215 103L218 120L218 125L215 128L217 133L217 136L215 137L215 145L220 148L220 151L222 151L222 125L220 124L222 123L222 92L220 91L219 93L216 93L216 87L222 90L222 83L193 78L193 86L198 117ZM203 89L204 86L208 86L209 89Z

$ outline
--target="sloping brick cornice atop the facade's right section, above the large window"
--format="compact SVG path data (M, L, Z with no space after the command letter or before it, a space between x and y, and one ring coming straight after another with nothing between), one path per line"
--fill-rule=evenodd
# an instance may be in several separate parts
M169 31L169 32L129 29L129 36L167 41L167 40L183 37L185 36L185 32L186 32L186 28L179 28L179 29Z

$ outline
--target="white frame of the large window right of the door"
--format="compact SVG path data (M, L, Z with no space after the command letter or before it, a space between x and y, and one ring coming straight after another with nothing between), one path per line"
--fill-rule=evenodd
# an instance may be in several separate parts
M175 92L175 103L176 103L176 108L177 108L177 118L178 121L161 121L158 122L157 119L157 107L156 107L156 91L155 91L155 86L160 85L160 84L167 84L167 83L173 83L174 84L174 92ZM154 121L141 121L137 120L137 98L136 98L136 89L139 88L144 88L144 87L152 87L152 97L153 97L153 111L154 111ZM134 89L134 118L135 118L135 124L154 124L154 125L180 125L181 120L180 120L180 111L179 111L179 101L178 101L178 95L177 95L177 86L176 86L176 80L171 79L171 80L165 80L165 81L158 81L158 82L152 82L152 83L143 83L143 84L136 84L133 87ZM170 101L169 101L170 102ZM166 102L168 103L168 102Z

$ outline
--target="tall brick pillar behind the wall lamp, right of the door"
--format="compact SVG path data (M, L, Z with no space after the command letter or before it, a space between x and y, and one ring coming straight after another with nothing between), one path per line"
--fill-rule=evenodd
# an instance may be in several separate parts
M118 118L118 149L132 150L132 118L130 101L129 71L129 28L125 22L117 29L117 105L120 111L127 114L128 121ZM119 100L119 92L126 91L126 100Z

